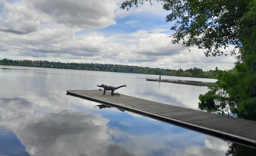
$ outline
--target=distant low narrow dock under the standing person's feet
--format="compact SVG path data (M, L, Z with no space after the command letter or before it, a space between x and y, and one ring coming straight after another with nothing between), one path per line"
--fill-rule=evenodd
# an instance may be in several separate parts
M194 86L217 86L215 82L202 82L202 81L191 81L191 80L173 80L173 79L151 79L146 78L147 81L157 81L157 82L169 82L169 83L178 83L183 85L194 85Z

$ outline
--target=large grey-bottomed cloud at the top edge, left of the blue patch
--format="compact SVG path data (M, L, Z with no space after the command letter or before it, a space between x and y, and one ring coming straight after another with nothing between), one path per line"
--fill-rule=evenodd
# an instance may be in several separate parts
M104 28L116 22L115 0L26 0L57 23L82 28Z

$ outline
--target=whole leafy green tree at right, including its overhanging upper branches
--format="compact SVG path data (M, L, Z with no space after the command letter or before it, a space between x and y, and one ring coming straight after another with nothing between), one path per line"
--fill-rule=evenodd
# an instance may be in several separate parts
M152 0L128 0L121 8ZM227 55L232 45L238 61L233 71L220 72L218 87L200 95L200 108L232 105L245 118L256 115L256 0L156 0L175 22L173 43L204 49L206 56ZM216 69L217 70L217 69ZM209 102L209 103L208 103ZM208 103L208 104L207 104ZM205 108L204 108L205 107ZM209 108L210 108L209 107ZM210 109L212 109L210 108Z

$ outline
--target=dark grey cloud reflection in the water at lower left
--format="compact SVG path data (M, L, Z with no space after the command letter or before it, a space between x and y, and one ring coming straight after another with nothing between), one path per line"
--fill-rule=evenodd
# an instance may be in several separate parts
M108 120L100 115L50 114L20 127L17 136L31 155L113 155L118 146L107 133ZM112 152L112 153L111 153ZM124 155L125 151L119 151Z

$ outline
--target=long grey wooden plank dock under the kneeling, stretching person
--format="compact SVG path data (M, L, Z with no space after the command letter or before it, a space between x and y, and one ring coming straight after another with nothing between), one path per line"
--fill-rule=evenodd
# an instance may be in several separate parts
M106 104L256 149L256 121L162 104L128 95L111 96L109 92L103 95L103 91L100 90L72 90L67 91L67 95Z

